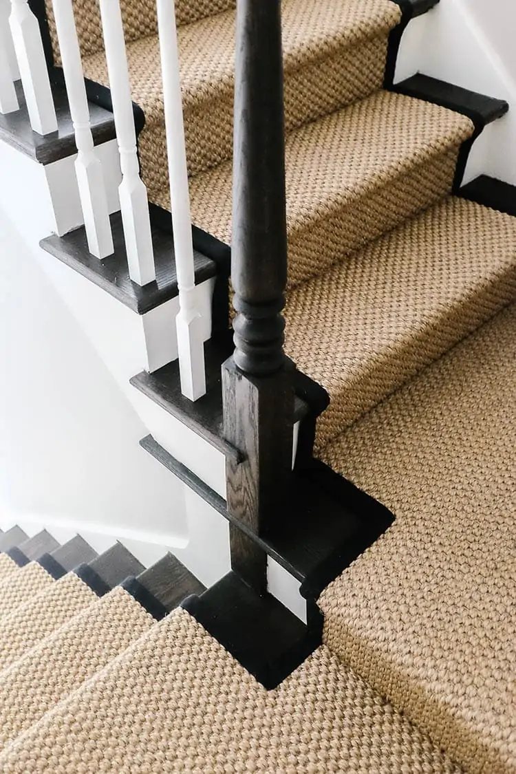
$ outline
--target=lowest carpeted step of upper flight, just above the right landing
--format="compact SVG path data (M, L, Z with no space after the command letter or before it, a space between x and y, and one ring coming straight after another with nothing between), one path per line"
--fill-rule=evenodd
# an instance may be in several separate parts
M516 219L456 197L294 289L286 351L331 397L317 447L515 292Z

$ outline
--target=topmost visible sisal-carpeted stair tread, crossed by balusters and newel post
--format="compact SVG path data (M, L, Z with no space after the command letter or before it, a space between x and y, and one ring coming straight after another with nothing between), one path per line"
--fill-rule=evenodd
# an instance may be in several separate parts
M388 33L401 18L390 0L318 0L299 5L283 0L285 72L307 60L330 56L342 46L375 34ZM231 92L234 81L235 11L207 16L178 28L183 109L199 106ZM132 99L145 111L146 125L163 122L163 98L157 35L128 43ZM84 58L84 73L108 85L104 51Z

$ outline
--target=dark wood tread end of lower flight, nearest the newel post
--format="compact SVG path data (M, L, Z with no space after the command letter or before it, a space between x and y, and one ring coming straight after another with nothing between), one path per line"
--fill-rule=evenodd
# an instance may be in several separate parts
M206 591L200 580L172 553L167 553L149 570L144 570L138 575L138 580L167 611L176 608L190 594L203 594Z

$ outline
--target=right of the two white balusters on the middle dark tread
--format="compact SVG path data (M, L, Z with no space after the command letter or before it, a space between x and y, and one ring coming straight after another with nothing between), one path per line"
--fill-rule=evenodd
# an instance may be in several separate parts
M140 177L136 152L135 119L132 112L124 27L118 0L100 0L104 48L108 63L109 86L117 131L122 181L120 209L124 225L129 276L138 285L155 279L149 200Z

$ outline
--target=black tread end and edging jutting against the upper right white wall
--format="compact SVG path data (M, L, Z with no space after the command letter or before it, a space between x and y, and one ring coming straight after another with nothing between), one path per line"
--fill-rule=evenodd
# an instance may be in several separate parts
M470 91L422 73L412 75L412 77L395 84L391 87L391 91L438 104L441 108L466 115L473 122L473 135L462 143L457 158L452 188L453 193L456 193L462 184L473 142L488 124L502 118L507 113L509 104L505 100L487 97L485 94L479 94L476 91Z

